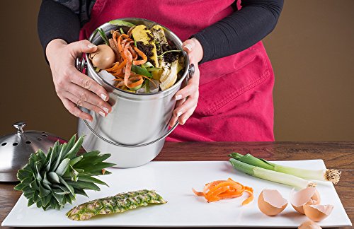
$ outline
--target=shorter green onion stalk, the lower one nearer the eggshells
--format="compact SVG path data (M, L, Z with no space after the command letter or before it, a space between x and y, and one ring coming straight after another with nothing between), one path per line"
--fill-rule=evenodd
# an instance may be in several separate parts
M267 170L254 165L249 165L234 158L230 158L229 161L236 170L244 172L247 175L251 175L253 177L258 177L264 180L269 180L271 182L277 182L280 184L287 184L298 189L304 189L306 187L316 187L316 184L314 182L304 180L300 177L295 177L286 173L275 172L273 170Z

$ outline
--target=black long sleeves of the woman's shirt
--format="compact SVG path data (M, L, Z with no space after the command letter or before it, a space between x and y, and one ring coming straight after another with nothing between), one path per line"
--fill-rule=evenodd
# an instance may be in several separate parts
M79 30L89 21L94 3L94 0L42 0L38 34L43 49L57 38L68 43L79 40ZM241 52L262 40L275 28L282 5L283 0L244 0L241 10L234 7L234 13L192 35L204 51L200 63Z

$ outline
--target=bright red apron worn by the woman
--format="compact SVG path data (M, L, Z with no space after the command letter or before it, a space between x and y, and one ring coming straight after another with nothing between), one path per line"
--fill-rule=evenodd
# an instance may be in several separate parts
M182 41L233 13L233 0L97 0L80 39L116 18L146 18ZM200 64L200 97L193 115L166 141L274 141L274 74L262 42Z

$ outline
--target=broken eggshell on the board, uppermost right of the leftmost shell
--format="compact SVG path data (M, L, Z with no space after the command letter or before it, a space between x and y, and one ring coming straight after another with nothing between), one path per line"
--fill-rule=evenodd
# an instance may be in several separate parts
M292 189L290 192L290 204L299 213L304 214L304 204L320 204L320 202L321 197L314 187L307 187L299 192Z

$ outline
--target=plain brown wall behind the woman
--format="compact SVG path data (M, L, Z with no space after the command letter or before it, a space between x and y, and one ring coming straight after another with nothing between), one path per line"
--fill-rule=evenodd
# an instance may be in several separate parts
M0 135L27 129L66 139L76 118L55 93L37 35L40 1L3 0ZM354 140L354 1L287 0L265 38L275 71L277 141Z

